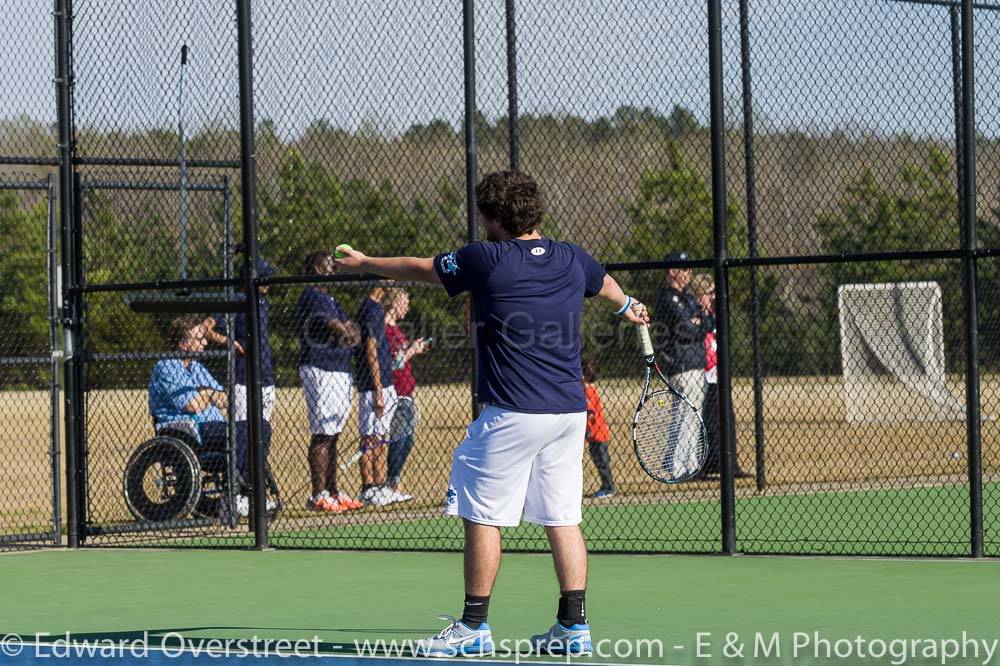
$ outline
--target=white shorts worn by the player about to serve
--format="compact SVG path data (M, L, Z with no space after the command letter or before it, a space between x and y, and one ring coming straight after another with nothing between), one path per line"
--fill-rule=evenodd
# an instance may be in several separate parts
M445 513L513 527L583 519L587 413L525 414L486 405L455 449Z

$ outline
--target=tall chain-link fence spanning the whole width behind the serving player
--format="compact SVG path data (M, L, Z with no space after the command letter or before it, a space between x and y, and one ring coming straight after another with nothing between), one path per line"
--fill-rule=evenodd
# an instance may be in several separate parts
M598 304L585 308L583 356L608 426L606 445L584 453L593 549L718 552L733 539L755 553L965 555L972 544L997 554L1000 7L973 10L970 135L962 5L947 0L796 1L777 13L722 0L722 122L710 113L711 3L255 2L241 33L244 6L55 2L56 27L69 31L65 41L55 33L69 69L56 88L71 93L62 129L72 163L60 172L72 190L60 201L75 343L64 384L79 409L67 416L71 542L459 548L460 524L440 507L475 409L468 301L336 274L328 253L341 242L374 255L459 247L476 237L470 184L513 167L546 195L543 233L582 245L654 315L672 307L671 282L714 307L713 179L727 191L728 290L716 298L729 304L730 358L718 362L732 390L720 395L711 371L700 382L713 430L702 477L664 486L641 472L634 334ZM49 63L51 26L19 7L3 27L31 38L0 49ZM44 53L15 52L20 42ZM242 100L241 54L252 72ZM14 184L60 165L50 69L3 70L23 91L0 107L0 178ZM241 112L254 123L252 164ZM34 216L45 191L11 194L22 211L11 220ZM4 289L27 289L12 271ZM368 360L336 323L372 312L412 373L396 374L405 399L374 453L361 434ZM31 407L23 390L38 391L36 402L58 395L45 382L48 353L62 347L37 337L29 354L17 347L26 335L5 336L9 355L40 362L4 361L0 395L30 413L33 441L47 445L40 415L55 412ZM670 329L654 335L673 344ZM251 348L262 355L259 449ZM705 350L715 356L711 337ZM187 419L167 418L157 391L170 373L196 370L188 397L205 402L205 418L179 429ZM981 413L970 422L976 387ZM25 466L42 478L59 449L39 452ZM382 483L394 494L373 499L369 486ZM20 506L27 491L0 486ZM337 493L346 497L328 502ZM59 523L58 503L52 515L35 505ZM970 533L977 511L981 534ZM3 520L0 534L44 531L34 517L9 529ZM531 526L505 539L545 546Z

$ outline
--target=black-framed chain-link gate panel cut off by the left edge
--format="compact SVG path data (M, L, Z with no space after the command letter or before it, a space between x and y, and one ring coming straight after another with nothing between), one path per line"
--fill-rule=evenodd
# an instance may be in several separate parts
M55 180L0 177L0 223L8 239L0 287L0 549L59 543ZM45 286L49 288L46 289Z

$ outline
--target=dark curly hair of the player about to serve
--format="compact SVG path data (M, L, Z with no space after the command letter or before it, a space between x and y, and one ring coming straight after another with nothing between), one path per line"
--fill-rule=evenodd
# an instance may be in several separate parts
M542 223L545 200L538 183L520 171L496 171L476 185L476 206L512 236L531 233Z

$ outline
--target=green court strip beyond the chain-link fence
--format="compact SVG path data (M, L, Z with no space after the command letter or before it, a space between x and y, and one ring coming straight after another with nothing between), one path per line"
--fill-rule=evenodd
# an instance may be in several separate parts
M996 492L998 484L987 484ZM991 487L994 487L991 491ZM968 488L945 485L898 490L797 493L737 501L737 533L745 552L856 552L892 555L969 554ZM987 516L989 541L995 531ZM670 531L652 525L673 526ZM1000 527L1000 526L998 526ZM720 548L717 500L617 504L584 509L592 547L623 551L711 551ZM545 549L544 532L524 524L504 532L508 548ZM461 523L452 518L342 525L323 529L272 528L275 546L344 549L460 549ZM162 545L250 546L244 532Z

